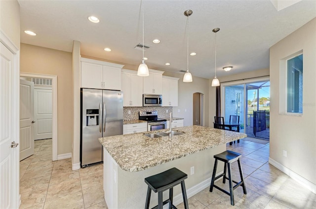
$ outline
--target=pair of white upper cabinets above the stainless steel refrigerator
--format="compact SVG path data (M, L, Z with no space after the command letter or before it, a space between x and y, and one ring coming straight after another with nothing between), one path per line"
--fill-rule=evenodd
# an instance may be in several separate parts
M121 68L124 65L81 58L81 87L121 90Z

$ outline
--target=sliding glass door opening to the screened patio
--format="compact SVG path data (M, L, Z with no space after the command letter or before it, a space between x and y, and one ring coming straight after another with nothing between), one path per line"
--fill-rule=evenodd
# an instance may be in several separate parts
M248 137L268 139L270 136L270 81L254 79L245 83L222 85L222 114L226 122L230 116L240 118L240 132Z

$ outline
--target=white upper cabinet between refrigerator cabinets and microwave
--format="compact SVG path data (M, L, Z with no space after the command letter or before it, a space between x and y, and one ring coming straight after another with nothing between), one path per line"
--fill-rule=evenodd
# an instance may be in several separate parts
M124 107L143 106L143 77L137 71L122 69L122 91Z

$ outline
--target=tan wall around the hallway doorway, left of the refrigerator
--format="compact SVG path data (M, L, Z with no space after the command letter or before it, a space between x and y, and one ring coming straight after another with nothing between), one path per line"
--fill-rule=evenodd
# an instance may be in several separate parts
M72 54L21 43L20 71L57 75L57 154L72 152L74 106Z

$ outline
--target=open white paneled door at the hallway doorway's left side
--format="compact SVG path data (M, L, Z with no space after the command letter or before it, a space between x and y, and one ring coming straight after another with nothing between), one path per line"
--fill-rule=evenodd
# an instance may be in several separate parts
M34 83L20 80L20 160L34 154Z

